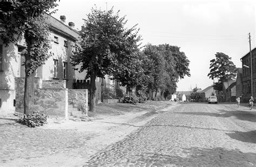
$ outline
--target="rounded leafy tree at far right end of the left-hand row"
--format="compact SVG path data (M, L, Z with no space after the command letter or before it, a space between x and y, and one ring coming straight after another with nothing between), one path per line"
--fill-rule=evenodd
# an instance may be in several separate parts
M164 98L176 92L176 83L179 79L185 75L190 76L190 61L184 52L180 52L179 47L169 44L148 44L143 52L147 56L144 71L151 78L149 87L156 92L160 89Z

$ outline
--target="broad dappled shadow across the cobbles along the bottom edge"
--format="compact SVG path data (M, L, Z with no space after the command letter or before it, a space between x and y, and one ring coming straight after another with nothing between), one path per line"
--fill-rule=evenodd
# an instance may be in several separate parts
M122 146L122 145L121 145ZM111 150L113 145L109 148ZM126 165L126 162L115 161L115 156L119 154L123 156L122 151L117 151L117 155L108 155L109 151L99 152L93 156L87 165ZM153 166L165 166L165 165L177 165L177 166L254 166L256 165L256 154L249 152L241 152L240 150L228 150L225 148L198 148L192 147L189 149L182 149L187 156L179 156L175 150L167 154L166 151L158 149L156 151L145 151L143 154L134 154L135 150L127 151L127 156L130 155L132 161L128 162L130 165L147 165ZM131 156L133 153L133 156ZM102 156L108 157L102 160ZM124 156L125 157L125 156ZM118 158L119 159L119 158Z

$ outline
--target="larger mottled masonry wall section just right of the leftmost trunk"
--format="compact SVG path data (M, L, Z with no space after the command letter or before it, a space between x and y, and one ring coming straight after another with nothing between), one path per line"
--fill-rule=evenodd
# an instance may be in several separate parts
M66 116L66 99L68 89L41 88L35 89L34 109L47 115Z

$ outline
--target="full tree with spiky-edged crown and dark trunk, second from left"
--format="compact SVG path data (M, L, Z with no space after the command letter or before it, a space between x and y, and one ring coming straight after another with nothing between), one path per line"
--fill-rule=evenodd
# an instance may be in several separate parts
M125 71L126 62L138 51L140 41L137 25L126 29L127 20L119 17L119 11L113 12L92 8L84 19L84 28L80 31L80 41L72 55L72 65L82 65L79 72L87 70L90 78L90 110L95 112L96 77L104 78ZM120 69L123 68L123 69ZM76 68L77 69L77 68Z

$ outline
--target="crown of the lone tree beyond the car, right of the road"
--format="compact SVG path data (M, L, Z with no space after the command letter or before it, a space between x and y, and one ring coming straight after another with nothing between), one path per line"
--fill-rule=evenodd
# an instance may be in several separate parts
M215 57L215 59L210 61L211 70L207 76L209 76L211 79L220 79L221 81L234 79L237 75L237 67L235 67L234 63L231 61L231 58L221 52L217 52Z

